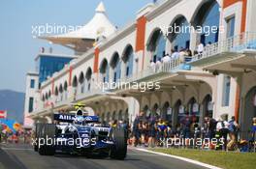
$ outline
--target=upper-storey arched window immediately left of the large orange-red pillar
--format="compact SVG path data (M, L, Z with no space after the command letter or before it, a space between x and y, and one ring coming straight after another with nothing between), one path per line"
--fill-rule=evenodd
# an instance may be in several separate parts
M134 62L134 51L131 45L128 45L126 47L122 60L125 65L125 76L129 77L130 75L133 74L133 62Z

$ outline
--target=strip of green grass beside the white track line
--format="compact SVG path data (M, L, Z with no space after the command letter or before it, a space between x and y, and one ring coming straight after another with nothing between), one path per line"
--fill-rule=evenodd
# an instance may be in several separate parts
M256 168L256 153L234 153L217 151L199 151L186 149L150 149L169 155L177 155L205 162L225 169Z

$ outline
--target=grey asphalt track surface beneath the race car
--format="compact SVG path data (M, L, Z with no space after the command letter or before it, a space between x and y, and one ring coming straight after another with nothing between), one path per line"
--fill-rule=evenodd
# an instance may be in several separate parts
M27 145L0 145L0 169L204 169L176 158L134 149L124 160L84 156L42 156Z

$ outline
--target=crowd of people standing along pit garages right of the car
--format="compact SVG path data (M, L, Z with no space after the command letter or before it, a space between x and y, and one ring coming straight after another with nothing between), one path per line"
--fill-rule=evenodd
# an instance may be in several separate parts
M199 120L195 116L186 114L180 118L176 127L172 126L172 122L166 122L158 115L150 115L146 117L144 112L141 112L134 120L132 126L126 122L115 120L110 125L117 127L120 124L122 127L127 128L129 133L128 144L143 147L162 147L163 140L167 138L180 138L180 139L223 139L224 144L219 142L216 145L210 145L209 149L212 150L238 150L244 140L239 139L240 125L232 117L230 121L222 119L215 120L210 117L205 117L203 125L200 126ZM253 123L250 131L250 140L248 144L255 146L255 133L256 133L256 118L253 118ZM241 144L241 145L240 145ZM195 148L195 145L180 145L180 147ZM196 146L196 148L204 148ZM248 146L247 146L248 148ZM248 148L249 149L249 148ZM249 151L249 150L247 150Z

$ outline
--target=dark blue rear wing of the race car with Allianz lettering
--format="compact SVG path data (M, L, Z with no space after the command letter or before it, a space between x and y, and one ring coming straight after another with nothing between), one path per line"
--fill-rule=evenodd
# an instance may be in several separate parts
M67 122L67 123L73 123L73 121L76 120L76 115L68 115L68 114L54 114L55 121L58 122ZM87 123L95 123L99 122L98 116L83 116L83 119Z

